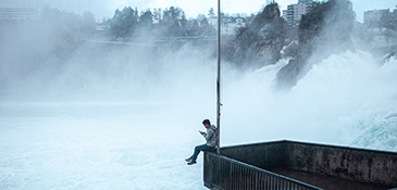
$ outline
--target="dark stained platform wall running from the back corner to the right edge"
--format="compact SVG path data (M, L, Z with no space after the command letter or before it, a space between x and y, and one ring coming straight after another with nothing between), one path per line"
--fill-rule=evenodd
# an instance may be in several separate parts
M397 153L311 143L286 143L287 168L397 187Z

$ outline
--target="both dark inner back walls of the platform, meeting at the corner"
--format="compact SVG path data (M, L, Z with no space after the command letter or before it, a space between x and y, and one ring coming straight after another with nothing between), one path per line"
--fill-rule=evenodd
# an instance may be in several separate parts
M397 187L397 153L275 141L221 149L221 154L263 169L286 168Z

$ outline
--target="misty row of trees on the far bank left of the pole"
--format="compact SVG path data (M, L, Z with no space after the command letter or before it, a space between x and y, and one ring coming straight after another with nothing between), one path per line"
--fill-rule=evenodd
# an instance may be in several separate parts
M209 17L214 17L213 9L209 11ZM137 8L125 7L115 10L114 16L107 21L110 24L110 35L113 38L128 37L189 37L189 36L215 36L208 17L198 15L197 20L187 20L181 8L150 9L140 12Z

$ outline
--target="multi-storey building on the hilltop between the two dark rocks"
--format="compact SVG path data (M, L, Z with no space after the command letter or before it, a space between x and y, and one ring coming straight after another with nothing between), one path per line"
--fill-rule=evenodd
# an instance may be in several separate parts
M283 10L283 18L289 25L298 25L303 14L311 11L313 0L299 0L297 4L289 4Z

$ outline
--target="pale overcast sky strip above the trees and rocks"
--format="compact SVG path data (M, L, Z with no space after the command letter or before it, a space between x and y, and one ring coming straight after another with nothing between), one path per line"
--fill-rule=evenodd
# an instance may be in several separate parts
M288 4L297 3L298 0L276 0L281 9L285 10ZM374 9L396 9L396 0L351 0L357 20L362 22L363 12ZM227 13L257 13L266 0L221 0L221 9ZM124 7L137 7L139 11L153 8L182 8L187 17L197 17L198 14L207 14L210 8L216 10L218 0L0 0L0 8L33 8L40 9L49 4L64 11L82 14L90 11L97 20L112 17L116 9Z

